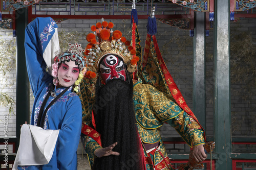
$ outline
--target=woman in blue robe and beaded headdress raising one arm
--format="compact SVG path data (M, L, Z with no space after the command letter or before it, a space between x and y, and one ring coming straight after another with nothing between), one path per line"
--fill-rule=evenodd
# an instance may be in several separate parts
M50 17L36 18L26 28L26 62L35 96L31 125L59 133L56 144L52 143L54 150L49 163L38 165L31 161L29 165L19 164L18 169L77 169L82 107L73 88L78 89L86 72L86 61L80 45L69 45L68 51L58 49L57 25ZM26 154L30 153L23 156Z

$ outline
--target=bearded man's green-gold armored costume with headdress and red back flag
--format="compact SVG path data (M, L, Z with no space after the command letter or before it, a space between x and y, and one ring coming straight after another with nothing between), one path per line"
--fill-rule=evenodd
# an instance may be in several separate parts
M113 32L113 35L114 33L115 32ZM144 63L142 66L141 62L139 62L141 61L140 59L137 63L138 69L133 66L133 59L127 59L126 56L129 55L126 55L126 53L124 55L120 53L119 50L116 50L115 47L119 45L120 41L115 39L102 40L99 45L91 45L91 51L96 49L99 50L100 53L98 55L95 52L95 56L91 52L88 54L96 58L93 59L94 68L92 69L95 71L99 71L100 62L106 54L116 54L127 65L129 72L133 72L134 69L137 69L138 80L133 80L133 104L137 132L144 153L144 162L141 163L144 164L144 169L148 170L173 169L164 148L160 127L164 123L174 127L190 147L204 144L205 135L195 115L187 107L162 58L158 58L158 46L155 48L153 42L154 38L154 36L147 36L143 60L146 64ZM108 51L111 45L112 50ZM137 52L139 51L138 49L136 50ZM132 50L129 51L132 53ZM95 121L92 114L92 108L95 102L94 84L95 81L92 81L90 75L84 77L83 84L80 86L81 93L79 94L83 105L81 140L88 154L91 166L94 163L95 151L102 148L100 134L94 129ZM129 150L129 148L127 148L127 150Z

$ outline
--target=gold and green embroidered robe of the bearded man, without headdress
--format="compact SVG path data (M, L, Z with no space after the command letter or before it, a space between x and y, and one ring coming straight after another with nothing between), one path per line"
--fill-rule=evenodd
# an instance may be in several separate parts
M158 146L159 142L159 147L153 152L147 153L145 147L143 147L147 169L153 169L153 164L154 166L162 167L159 169L164 169L166 163L170 168L170 161L167 158L159 129L164 122L173 126L190 147L204 143L204 132L194 118L184 112L173 99L157 90L154 86L136 82L134 84L133 99L137 120L136 126L143 142L142 144L157 143L156 146ZM89 123L90 125L90 122L84 123ZM89 136L82 137L82 140L92 164L94 151L97 148L101 148L101 146Z

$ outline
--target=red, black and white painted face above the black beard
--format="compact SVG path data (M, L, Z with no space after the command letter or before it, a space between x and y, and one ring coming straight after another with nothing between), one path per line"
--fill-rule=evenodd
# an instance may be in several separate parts
M109 54L100 62L100 73L103 82L106 84L112 79L126 80L125 66L117 55Z

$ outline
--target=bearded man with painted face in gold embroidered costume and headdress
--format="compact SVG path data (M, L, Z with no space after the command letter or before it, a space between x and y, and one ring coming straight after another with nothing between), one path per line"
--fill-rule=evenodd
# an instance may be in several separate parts
M87 101L82 102L86 107L81 140L92 169L173 169L159 129L164 123L193 147L197 162L205 160L202 127L173 96L131 79L130 72L136 70L133 50L126 50L125 40L116 31L112 39L101 37L100 43L87 47L92 66L99 72L95 98L90 97L94 85L80 86L84 91L80 99ZM83 81L88 84L90 80L85 77Z

